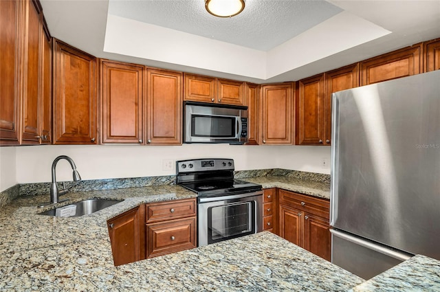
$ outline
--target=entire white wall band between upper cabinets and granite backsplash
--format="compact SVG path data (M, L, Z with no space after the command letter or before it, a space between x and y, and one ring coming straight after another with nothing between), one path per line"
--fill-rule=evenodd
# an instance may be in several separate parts
M201 157L232 158L236 170L286 168L330 173L322 158L330 160L324 146L230 146L228 144L184 144L182 146L20 146L1 147L1 188L15 183L51 181L52 161L58 155L74 159L83 179L113 179L175 175L175 161ZM15 155L15 158L14 158ZM173 170L163 170L163 160L173 161ZM15 165L14 165L15 161ZM10 165L9 165L10 164ZM9 165L9 166L8 166ZM15 172L15 175L12 173ZM3 183L3 173L5 181ZM72 180L67 161L56 167L58 181Z

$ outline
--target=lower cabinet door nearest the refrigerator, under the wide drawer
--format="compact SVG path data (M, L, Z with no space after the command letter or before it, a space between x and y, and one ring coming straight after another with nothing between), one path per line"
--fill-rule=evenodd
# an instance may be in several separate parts
M331 234L329 221L305 213L304 248L325 260L331 260Z

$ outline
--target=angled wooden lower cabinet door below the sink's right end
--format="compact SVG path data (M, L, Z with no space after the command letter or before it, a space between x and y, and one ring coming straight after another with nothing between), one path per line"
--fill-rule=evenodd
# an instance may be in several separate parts
M125 212L107 223L115 266L141 260L139 207Z

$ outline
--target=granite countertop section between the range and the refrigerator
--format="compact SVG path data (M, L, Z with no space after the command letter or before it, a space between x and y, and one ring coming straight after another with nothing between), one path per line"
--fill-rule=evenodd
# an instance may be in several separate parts
M244 181L251 183L259 183L263 188L282 188L299 192L301 194L309 194L323 199L330 199L330 183L321 181L312 181L305 179L297 179L294 177L246 177Z

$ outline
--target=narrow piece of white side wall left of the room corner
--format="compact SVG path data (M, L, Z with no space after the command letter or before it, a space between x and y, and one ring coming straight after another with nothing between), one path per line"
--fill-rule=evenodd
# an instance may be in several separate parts
M0 192L17 184L16 147L0 147Z

